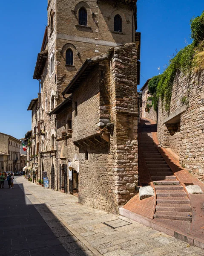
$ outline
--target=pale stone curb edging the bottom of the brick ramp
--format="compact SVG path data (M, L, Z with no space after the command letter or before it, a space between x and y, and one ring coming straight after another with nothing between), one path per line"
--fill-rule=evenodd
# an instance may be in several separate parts
M204 240L199 239L195 236L191 236L190 234L187 233L183 233L181 231L176 231L174 229L171 229L170 227L167 227L165 225L162 224L158 224L156 221L151 220L147 217L144 217L142 215L139 215L135 212L131 212L127 209L124 208L119 208L119 213L120 215L126 217L126 218L130 218L133 221L137 221L140 224L143 224L147 227L151 227L155 230L161 231L166 233L167 235L170 236L175 236L175 238L180 239L182 241L185 241L191 245L195 245L201 249L204 249Z

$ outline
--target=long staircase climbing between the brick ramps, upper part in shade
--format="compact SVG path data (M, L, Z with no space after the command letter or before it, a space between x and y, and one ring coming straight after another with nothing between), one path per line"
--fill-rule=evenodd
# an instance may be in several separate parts
M140 148L155 185L157 204L154 218L178 221L192 221L190 201L183 186L173 175L158 151L148 129L141 133Z

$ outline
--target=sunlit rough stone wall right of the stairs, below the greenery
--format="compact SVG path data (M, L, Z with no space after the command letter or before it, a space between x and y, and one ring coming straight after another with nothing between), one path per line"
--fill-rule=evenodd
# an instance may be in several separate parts
M161 99L158 111L158 138L161 146L171 148L179 155L181 165L202 181L204 181L203 81L204 71L193 73L190 77L178 73L172 88L170 113L164 111ZM186 110L181 113L179 123L171 124L170 127L169 124L164 124L164 118L176 111L179 112L181 108Z

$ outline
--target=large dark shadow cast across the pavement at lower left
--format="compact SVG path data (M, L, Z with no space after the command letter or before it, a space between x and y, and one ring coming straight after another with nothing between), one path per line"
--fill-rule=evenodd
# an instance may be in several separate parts
M0 256L92 255L43 204L34 207L23 184L5 181L0 198Z

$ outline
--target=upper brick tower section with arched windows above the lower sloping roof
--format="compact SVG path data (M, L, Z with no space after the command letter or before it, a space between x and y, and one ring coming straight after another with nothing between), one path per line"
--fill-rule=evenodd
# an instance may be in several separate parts
M135 41L134 1L49 0L48 69L60 93L87 58ZM51 74L52 73L52 74Z

